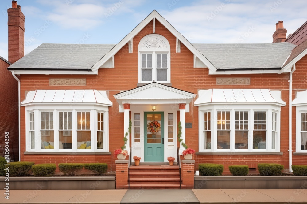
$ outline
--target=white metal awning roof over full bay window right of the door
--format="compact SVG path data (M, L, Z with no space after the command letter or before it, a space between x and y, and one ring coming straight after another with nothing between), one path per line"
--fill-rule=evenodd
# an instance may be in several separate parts
M270 89L208 89L199 90L195 106L211 103L271 103L286 106L281 91Z

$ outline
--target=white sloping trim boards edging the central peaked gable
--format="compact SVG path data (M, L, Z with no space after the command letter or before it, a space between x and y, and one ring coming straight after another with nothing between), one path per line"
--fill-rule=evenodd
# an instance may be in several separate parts
M156 10L151 12L140 24L137 25L126 37L124 37L118 44L116 44L106 55L104 55L94 66L93 71L97 71L101 65L115 55L123 46L125 46L130 39L134 38L151 20L157 19L165 28L169 30L178 40L184 44L193 54L196 55L212 72L216 71L216 67L204 55L202 55L183 35L181 35L169 22L167 22Z

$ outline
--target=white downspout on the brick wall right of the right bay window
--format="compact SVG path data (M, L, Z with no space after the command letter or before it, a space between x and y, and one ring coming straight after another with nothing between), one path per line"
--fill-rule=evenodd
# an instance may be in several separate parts
M289 171L292 172L292 74L295 71L295 63L289 75Z

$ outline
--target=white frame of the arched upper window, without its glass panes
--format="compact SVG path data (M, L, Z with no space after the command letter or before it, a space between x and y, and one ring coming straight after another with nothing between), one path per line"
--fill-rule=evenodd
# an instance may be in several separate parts
M167 48L141 48L142 44L149 38L152 37L157 37L162 39L166 45ZM142 54L152 54L152 81L142 81ZM157 81L157 76L156 76L156 54L167 54L167 80L166 81ZM138 83L151 83L153 80L158 83L170 83L171 81L171 56L170 56L170 45L168 40L163 37L162 35L159 34L150 34L146 35L140 40L140 43L138 44Z

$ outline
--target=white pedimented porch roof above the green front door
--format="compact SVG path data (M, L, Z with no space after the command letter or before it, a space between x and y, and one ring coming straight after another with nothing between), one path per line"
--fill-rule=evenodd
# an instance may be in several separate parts
M114 95L121 105L130 104L189 104L194 94L177 88L169 87L157 82L152 82L141 87L123 91Z

